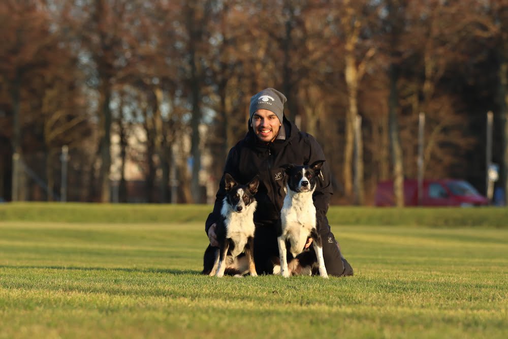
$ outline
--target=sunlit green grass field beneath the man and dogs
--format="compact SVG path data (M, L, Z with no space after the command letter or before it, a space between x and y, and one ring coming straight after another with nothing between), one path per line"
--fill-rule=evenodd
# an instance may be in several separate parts
M216 279L199 275L207 206L38 208L0 207L0 338L508 337L502 222L336 223L352 277Z

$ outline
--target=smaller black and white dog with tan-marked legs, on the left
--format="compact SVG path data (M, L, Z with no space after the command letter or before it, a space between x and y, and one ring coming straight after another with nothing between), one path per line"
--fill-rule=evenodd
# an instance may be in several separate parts
M242 276L248 272L257 276L254 265L254 212L257 202L259 177L243 185L225 174L226 196L220 211L223 219L217 222L219 248L208 245L203 258L203 274L218 277Z

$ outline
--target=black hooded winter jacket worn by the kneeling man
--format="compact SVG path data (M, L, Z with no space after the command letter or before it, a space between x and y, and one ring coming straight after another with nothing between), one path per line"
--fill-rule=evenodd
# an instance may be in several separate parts
M280 219L280 209L285 197L284 171L285 164L309 165L317 160L325 160L323 149L313 136L298 130L295 124L285 117L285 140L276 139L265 143L258 139L252 128L245 138L240 140L229 151L224 173L229 173L241 183L249 182L256 174L260 176L260 186L256 194L258 206L254 219L256 223L273 223ZM326 212L332 194L330 168L325 162L323 176L314 191L314 205L318 229L322 234L330 232ZM226 196L224 174L219 183L213 211L208 215L205 231L222 219L220 209Z

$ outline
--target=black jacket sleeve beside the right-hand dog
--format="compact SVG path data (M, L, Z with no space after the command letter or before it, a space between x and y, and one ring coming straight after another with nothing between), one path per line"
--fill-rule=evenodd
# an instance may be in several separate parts
M330 232L330 225L328 225L326 213L328 212L330 198L333 194L330 165L326 162L323 148L311 135L309 135L309 143L310 155L308 164L310 165L318 160L325 160L325 163L321 168L322 175L317 178L318 182L316 190L314 191L313 199L314 206L316 207L317 229L321 234L328 235Z

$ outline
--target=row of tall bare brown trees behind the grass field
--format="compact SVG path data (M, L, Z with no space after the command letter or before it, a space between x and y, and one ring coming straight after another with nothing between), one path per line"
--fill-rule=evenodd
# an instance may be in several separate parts
M122 164L143 170L147 201L169 201L175 166L179 201L202 202L203 151L218 180L250 96L265 87L282 91L285 114L323 145L336 202L369 203L375 183L393 178L403 203L402 179L418 171L420 112L425 176L484 189L492 110L493 159L508 184L508 0L4 0L0 30L6 199L18 184L13 155L54 192L69 145L69 198L111 201L115 131ZM134 154L127 140L140 125L144 150ZM175 157L185 138L190 149Z

